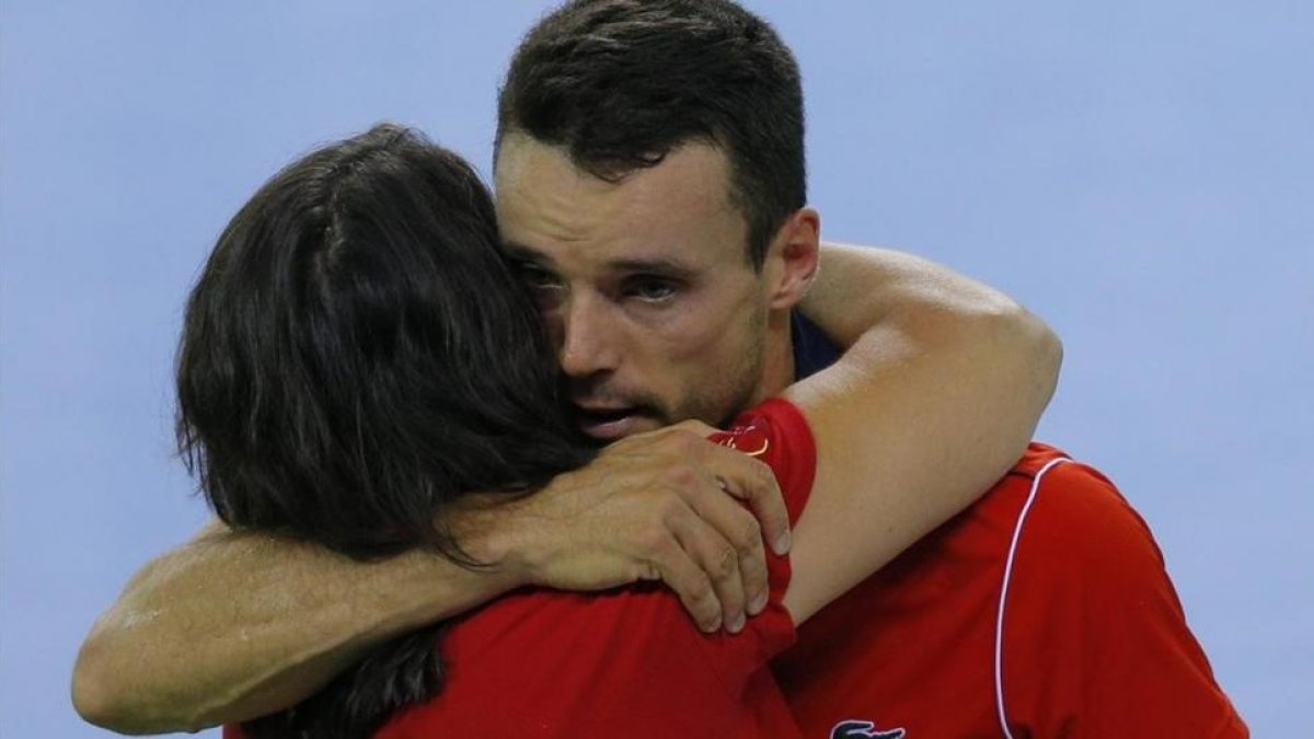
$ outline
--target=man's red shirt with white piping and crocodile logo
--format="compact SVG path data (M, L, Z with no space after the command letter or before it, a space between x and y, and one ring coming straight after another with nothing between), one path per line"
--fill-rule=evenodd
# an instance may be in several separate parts
M1248 735L1144 522L1043 444L774 667L809 738Z

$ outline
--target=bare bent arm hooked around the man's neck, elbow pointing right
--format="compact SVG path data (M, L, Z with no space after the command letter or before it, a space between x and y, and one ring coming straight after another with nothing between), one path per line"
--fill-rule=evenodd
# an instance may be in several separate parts
M1008 471L1062 360L1007 296L888 250L827 245L803 310L851 348L783 393L817 443L784 600L800 623Z

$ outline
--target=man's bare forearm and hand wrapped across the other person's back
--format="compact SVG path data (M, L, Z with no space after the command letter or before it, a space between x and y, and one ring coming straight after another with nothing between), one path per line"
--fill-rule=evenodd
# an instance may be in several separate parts
M463 547L495 563L486 569L422 551L360 563L215 523L146 565L96 622L74 703L126 734L246 721L309 697L382 640L527 584L661 579L704 629L719 627L728 589L748 593L737 602L765 590L762 533L787 526L779 489L761 464L692 431L644 437L533 496L456 514Z

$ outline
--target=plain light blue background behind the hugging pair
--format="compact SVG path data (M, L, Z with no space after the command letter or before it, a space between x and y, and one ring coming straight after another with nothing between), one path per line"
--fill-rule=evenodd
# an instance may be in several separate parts
M279 166L380 118L490 160L545 8L0 1L0 736L99 736L78 644L205 518L180 306ZM1257 736L1314 697L1314 5L758 0L830 238L999 285L1066 342L1041 437L1121 484ZM1303 707L1298 707L1303 705Z

